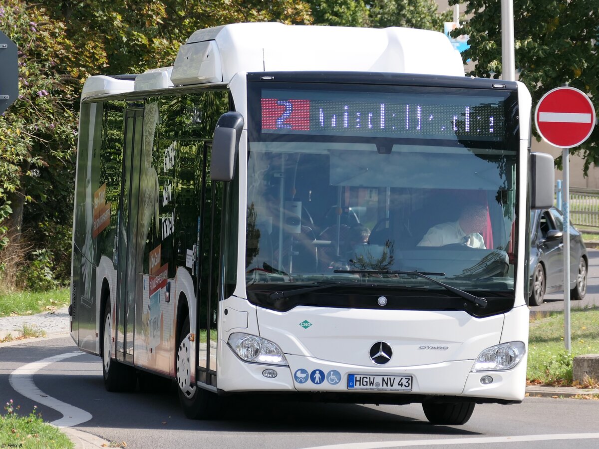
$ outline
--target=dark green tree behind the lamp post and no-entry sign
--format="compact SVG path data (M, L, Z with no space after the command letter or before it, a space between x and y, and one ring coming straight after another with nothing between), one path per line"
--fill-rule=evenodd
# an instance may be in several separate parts
M456 4L458 0L450 0ZM471 0L465 14L471 16L457 34L467 34L470 48L462 53L476 63L468 75L498 78L501 75L501 2ZM547 0L543 7L533 0L514 0L515 61L519 80L530 90L533 105L554 87L568 83L591 99L599 93L599 0ZM536 130L535 135L540 139ZM585 174L599 164L599 130L580 147Z

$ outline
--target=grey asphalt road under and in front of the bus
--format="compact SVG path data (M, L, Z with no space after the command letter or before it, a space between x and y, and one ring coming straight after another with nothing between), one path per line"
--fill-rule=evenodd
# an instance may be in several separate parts
M299 404L276 398L230 402L220 419L190 421L183 416L174 389L108 393L99 357L71 355L74 353L77 350L69 337L0 348L2 404L13 399L25 414L38 405L44 419L54 421L62 414L40 401L62 401L55 406L71 406L65 416L68 420L80 420L82 412L91 414L89 420L76 424L76 429L111 443L125 442L128 449L432 448L448 444L472 448L491 443L493 447L527 449L599 446L599 401L577 399L526 398L520 405L477 405L464 426L431 426L420 405ZM23 391L27 376L22 370L43 365L27 364L60 354L65 358L42 366ZM17 369L19 375L14 374ZM13 385L25 396L9 383L11 374Z

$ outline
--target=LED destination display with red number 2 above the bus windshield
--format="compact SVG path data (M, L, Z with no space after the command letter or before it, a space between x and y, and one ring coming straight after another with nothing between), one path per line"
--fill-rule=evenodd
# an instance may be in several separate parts
M500 141L497 96L262 90L263 134Z

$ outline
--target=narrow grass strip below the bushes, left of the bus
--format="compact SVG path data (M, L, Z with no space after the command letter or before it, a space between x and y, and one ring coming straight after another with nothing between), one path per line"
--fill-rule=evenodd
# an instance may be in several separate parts
M70 301L69 289L50 292L0 293L0 317L9 315L33 315L56 310Z

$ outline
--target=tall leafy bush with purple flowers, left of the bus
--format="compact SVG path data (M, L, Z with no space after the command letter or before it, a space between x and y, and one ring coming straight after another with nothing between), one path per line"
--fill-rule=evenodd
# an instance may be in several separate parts
M0 22L19 48L20 95L0 119L0 269L10 287L25 273L25 250L40 248L35 257L52 266L48 238L68 229L80 81L62 23L16 0L0 7Z

